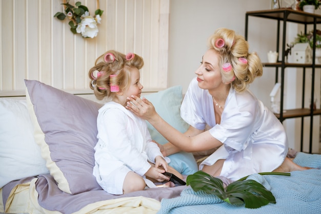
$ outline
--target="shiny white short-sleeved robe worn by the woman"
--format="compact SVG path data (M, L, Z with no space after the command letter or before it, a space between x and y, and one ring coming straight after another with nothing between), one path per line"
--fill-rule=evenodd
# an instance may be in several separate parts
M224 144L199 169L225 159L221 176L235 181L253 173L271 172L287 155L288 139L282 123L249 90L236 93L230 89L220 124L216 124L213 98L208 90L198 87L194 78L180 114L198 130L208 124L210 134Z

